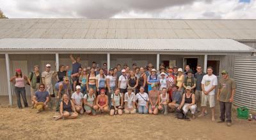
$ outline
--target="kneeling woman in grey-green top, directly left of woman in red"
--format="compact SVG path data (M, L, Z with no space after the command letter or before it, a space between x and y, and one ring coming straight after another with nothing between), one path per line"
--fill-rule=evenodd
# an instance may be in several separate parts
M96 111L93 109L93 106L95 106L96 97L93 93L93 88L90 88L88 94L84 95L84 109L88 115L96 115Z

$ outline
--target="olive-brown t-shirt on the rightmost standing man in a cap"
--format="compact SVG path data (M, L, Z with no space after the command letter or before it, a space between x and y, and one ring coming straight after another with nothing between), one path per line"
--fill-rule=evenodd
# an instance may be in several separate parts
M231 78L228 78L227 80L221 78L218 88L220 89L220 101L229 102L232 89L236 88L236 82Z

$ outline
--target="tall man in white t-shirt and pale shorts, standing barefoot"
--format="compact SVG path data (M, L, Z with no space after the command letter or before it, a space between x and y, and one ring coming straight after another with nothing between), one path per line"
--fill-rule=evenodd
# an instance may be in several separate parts
M211 111L212 111L212 121L215 121L215 88L218 85L218 79L217 77L212 74L212 67L207 67L207 74L204 75L203 80L202 80L202 111L201 114L198 115L204 116L204 111L207 106L207 102L209 102Z

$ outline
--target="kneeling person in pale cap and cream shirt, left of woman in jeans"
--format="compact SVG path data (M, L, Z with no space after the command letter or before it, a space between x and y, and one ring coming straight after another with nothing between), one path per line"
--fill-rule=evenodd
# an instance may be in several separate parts
M127 91L124 95L124 113L131 113L135 114L136 113L136 106L135 106L135 94L132 92L132 87L128 87Z

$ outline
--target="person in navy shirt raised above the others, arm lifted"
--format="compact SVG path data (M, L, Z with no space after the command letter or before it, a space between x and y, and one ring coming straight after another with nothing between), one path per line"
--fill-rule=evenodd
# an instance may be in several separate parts
M81 64L79 63L81 60L81 57L76 57L76 59L73 57L73 55L70 55L70 59L72 61L72 81L73 81L73 91L76 91L76 85L77 82L79 81L79 68L82 67Z

